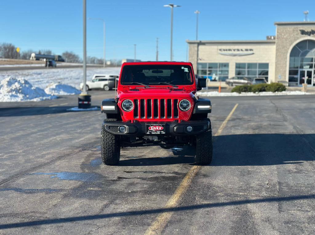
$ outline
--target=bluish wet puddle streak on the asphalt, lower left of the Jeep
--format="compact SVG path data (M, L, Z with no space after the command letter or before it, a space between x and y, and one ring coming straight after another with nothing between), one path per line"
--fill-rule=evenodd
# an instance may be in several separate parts
M97 174L94 173L83 173L83 172L53 172L53 173L32 173L31 175L52 175L50 178L58 178L63 180L77 180L77 181L95 181L98 179Z

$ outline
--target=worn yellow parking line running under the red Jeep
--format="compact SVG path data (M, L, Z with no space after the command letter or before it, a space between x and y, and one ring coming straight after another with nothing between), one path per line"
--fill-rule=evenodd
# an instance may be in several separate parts
M226 123L231 118L237 106L238 104L235 104L234 108L231 110L229 115L223 121L218 132L214 136L219 136L221 134L224 127L226 126ZM187 191L189 185L192 182L192 179L196 176L199 170L200 170L200 166L193 166L192 168L190 168L190 170L188 171L184 179L180 182L180 185L177 187L175 193L171 196L171 198L168 200L168 202L164 206L165 209L174 208L175 206L178 206L181 196ZM161 234L164 227L169 222L169 219L171 218L172 214L173 214L172 211L167 211L157 216L155 221L151 224L151 226L146 230L144 234L145 235Z

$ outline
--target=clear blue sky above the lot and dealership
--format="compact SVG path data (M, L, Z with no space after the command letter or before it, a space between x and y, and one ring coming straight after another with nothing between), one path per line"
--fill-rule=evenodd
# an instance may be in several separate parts
M302 21L303 11L315 21L315 1L107 1L87 0L87 17L106 21L106 58L134 57L155 60L159 38L159 60L169 60L170 9L174 9L174 60L186 60L186 40L195 39L199 10L199 40L264 40L275 35L275 21ZM0 43L9 42L21 50L51 49L55 54L74 51L82 56L81 0L0 1ZM103 56L103 25L87 21L87 54Z

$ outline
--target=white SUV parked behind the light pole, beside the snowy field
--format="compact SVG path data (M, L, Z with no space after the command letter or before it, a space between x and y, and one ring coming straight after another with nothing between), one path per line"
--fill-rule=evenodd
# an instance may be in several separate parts
M86 90L104 89L112 90L115 87L115 80L119 78L117 74L94 74L92 81L86 81ZM83 83L80 83L80 89L83 89Z

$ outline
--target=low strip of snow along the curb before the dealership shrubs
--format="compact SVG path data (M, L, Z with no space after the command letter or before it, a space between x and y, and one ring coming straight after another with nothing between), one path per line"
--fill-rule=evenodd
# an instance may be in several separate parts
M198 92L197 95L199 96L266 96L266 95L310 95L311 93L302 92L302 91L282 91L282 92L271 92L271 91L264 91L264 92L217 92L217 91L208 91L208 92Z

